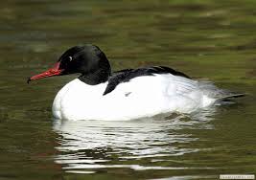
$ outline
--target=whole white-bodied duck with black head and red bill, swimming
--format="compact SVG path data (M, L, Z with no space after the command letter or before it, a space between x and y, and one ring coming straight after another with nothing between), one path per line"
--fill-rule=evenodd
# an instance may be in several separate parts
M54 67L29 78L28 83L70 74L80 76L58 91L52 106L58 120L128 121L162 113L188 114L243 96L167 66L112 72L105 53L92 44L69 48Z

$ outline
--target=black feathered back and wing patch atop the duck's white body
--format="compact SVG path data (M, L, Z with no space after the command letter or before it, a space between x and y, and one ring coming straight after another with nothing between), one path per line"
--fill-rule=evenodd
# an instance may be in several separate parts
M125 69L114 72L113 75L108 79L108 84L105 88L104 95L113 91L119 83L128 82L130 79L134 79L136 77L153 76L155 74L172 74L175 76L190 79L187 75L165 66Z

